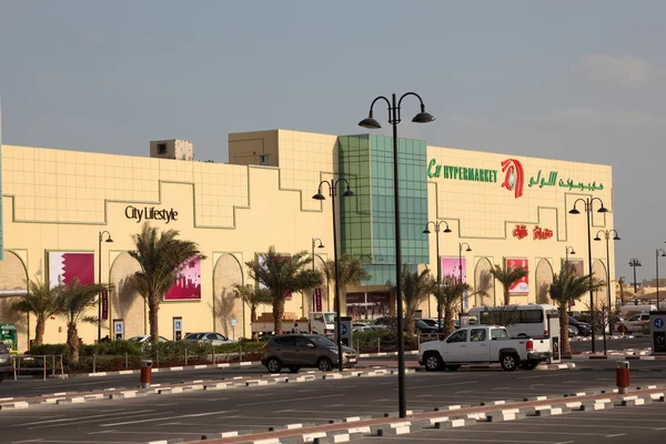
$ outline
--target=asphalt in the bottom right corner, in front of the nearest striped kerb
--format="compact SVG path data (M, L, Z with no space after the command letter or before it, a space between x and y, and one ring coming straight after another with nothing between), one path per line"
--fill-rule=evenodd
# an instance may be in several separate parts
M427 430L400 436L365 437L363 444L525 443L612 444L664 441L664 403L527 417L505 423L477 423L464 428Z

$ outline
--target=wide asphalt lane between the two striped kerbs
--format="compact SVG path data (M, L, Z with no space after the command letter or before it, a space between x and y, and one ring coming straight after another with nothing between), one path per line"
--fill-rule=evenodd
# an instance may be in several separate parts
M666 369L660 363L645 362L645 365L648 364L653 367L658 365L659 370ZM549 372L418 372L406 375L407 408L476 404L483 401L508 401L547 394L563 395L612 389L614 383L615 374L603 369ZM660 383L662 372L639 371L632 374L633 386ZM29 440L39 440L40 443L102 444L142 443L174 437L192 441L204 434L225 431L256 432L292 423L321 424L346 416L381 416L397 410L396 384L396 376L389 375L39 406L3 411L0 414L0 430L2 442L12 444L26 443ZM566 416L563 421L568 424L571 417L574 416ZM545 420L547 421L553 420ZM623 421L622 424L629 426L627 421ZM633 426L642 425L637 418ZM559 427L564 432L576 430L574 426ZM601 425L597 427L603 430ZM549 426L549 430L556 428ZM421 438L428 441L425 435ZM488 434L486 442L497 442L496 438L498 436ZM516 442L516 438L515 434L509 436L511 442ZM551 440L542 436L536 441L523 442L567 441L572 440Z

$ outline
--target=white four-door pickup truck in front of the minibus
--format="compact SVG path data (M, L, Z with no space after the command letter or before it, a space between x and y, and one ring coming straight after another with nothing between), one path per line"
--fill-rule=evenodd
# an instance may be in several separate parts
M462 364L496 363L502 369L534 370L551 357L551 342L532 339L511 339L505 327L478 325L460 329L441 341L418 346L418 364L428 372L457 370Z

